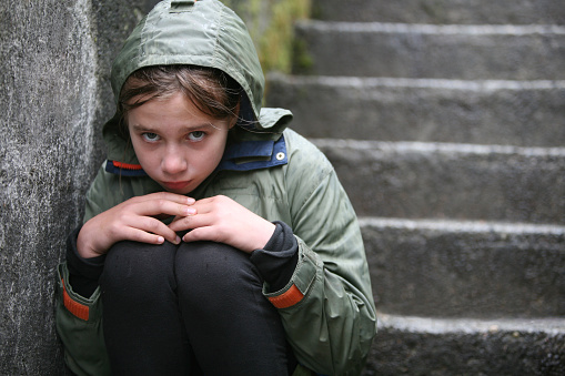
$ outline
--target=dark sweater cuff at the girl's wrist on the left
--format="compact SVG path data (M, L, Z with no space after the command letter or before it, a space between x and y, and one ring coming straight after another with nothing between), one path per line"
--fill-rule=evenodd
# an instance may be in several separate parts
M72 289L83 296L90 297L98 287L98 280L104 268L105 255L83 258L77 250L77 237L80 227L67 238L67 267L69 268L69 284Z

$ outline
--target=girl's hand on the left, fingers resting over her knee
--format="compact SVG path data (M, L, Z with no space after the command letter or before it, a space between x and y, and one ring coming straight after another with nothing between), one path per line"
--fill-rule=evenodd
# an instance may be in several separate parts
M162 244L165 240L179 244L180 238L157 217L186 216L195 213L194 199L159 192L132 197L100 213L84 223L77 240L77 250L84 257L95 257L120 241Z

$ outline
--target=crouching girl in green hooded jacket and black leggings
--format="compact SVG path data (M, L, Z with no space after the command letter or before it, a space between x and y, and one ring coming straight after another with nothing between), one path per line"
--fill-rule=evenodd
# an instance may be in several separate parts
M215 0L162 1L125 41L108 160L58 268L75 374L361 372L375 308L355 214L263 87Z

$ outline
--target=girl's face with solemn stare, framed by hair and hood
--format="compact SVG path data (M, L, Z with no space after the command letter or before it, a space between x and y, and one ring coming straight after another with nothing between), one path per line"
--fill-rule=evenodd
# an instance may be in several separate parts
M128 129L148 175L169 192L186 194L220 163L235 120L213 119L179 92L129 111Z

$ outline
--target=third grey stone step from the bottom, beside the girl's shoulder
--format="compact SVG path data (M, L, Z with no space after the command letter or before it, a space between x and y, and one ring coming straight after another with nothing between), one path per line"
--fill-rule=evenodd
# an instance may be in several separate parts
M565 224L565 149L313 139L357 215Z

